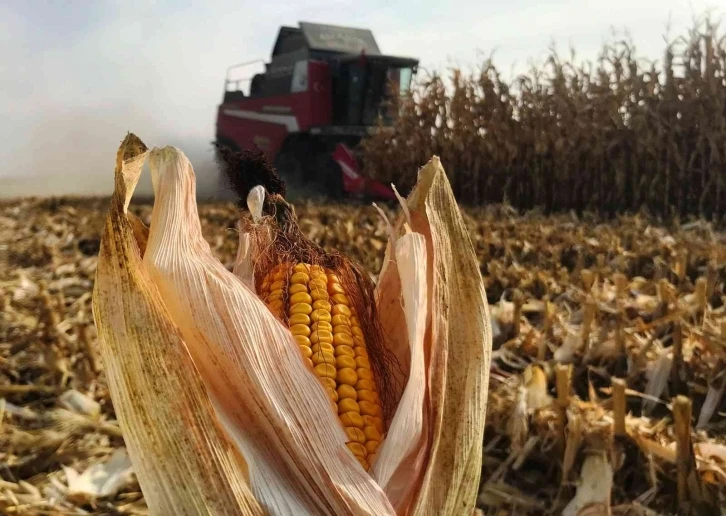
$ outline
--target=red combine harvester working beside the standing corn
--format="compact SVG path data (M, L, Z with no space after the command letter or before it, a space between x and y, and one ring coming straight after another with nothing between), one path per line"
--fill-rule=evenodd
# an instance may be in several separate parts
M293 196L395 199L361 174L356 147L379 117L393 122L382 101L410 87L418 60L382 55L369 30L301 22L280 28L264 73L231 78L260 61L227 70L217 143L257 146Z

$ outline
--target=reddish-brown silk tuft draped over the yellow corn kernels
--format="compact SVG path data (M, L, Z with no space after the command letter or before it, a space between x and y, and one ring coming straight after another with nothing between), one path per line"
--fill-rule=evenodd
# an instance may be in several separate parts
M326 251L308 239L300 230L294 207L280 195L266 196L263 214L259 222L246 219L242 224L243 230L256 244L253 248L257 253L252 256L252 261L258 294L264 278L276 268L287 267L287 280L292 275L292 267L298 263L333 271L340 278L353 312L358 314L381 399L383 420L385 424L389 423L397 404L396 394L401 391L397 384L400 374L396 373L400 366L396 356L388 349L375 303L375 285L367 271L344 254ZM287 301L288 293L285 291L285 305ZM283 312L281 315L287 324L287 314Z

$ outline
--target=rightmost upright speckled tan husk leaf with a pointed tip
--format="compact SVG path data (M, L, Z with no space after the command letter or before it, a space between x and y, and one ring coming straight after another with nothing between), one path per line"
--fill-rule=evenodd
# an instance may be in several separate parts
M407 204L412 229L427 239L431 318L425 340L430 346L430 450L412 513L470 514L481 475L492 342L489 307L468 231L438 157L419 171ZM390 249L386 255L390 257ZM400 285L398 273L384 264L378 288L382 314L394 310L396 283ZM382 317L386 331L395 332L392 325L403 322L394 314ZM406 351L398 355L401 360Z

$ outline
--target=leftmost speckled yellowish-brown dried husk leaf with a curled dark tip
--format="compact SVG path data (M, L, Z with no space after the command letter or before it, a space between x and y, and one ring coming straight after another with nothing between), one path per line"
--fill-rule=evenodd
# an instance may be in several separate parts
M141 261L127 208L146 156L130 134L98 259L93 313L116 415L153 514L262 514L178 328ZM144 245L145 242L141 242Z

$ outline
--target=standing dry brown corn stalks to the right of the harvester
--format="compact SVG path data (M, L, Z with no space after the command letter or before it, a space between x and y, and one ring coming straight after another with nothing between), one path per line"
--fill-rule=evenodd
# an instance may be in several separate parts
M488 59L394 97L399 117L362 143L366 172L407 189L432 154L457 199L545 212L726 215L726 36L710 20L660 62L627 39L594 63L550 50L513 81ZM419 74L421 75L421 74Z

